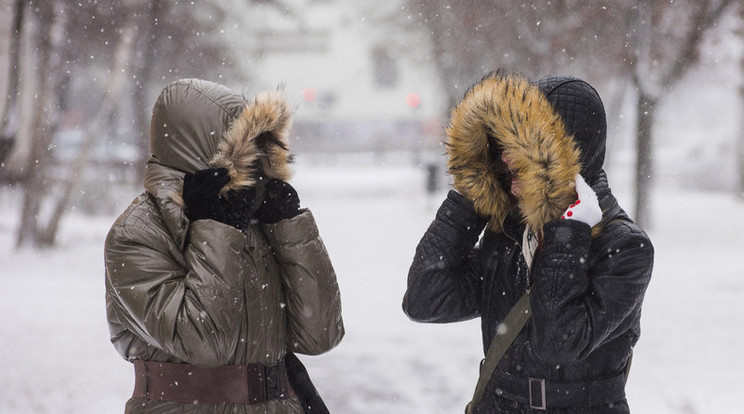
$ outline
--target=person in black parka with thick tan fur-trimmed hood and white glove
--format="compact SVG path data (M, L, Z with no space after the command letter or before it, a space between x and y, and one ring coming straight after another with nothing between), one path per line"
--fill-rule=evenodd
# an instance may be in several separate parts
M403 310L418 322L480 317L487 352L529 292L531 317L472 411L629 413L654 251L602 169L599 94L567 76L491 73L446 133L454 190L416 249Z

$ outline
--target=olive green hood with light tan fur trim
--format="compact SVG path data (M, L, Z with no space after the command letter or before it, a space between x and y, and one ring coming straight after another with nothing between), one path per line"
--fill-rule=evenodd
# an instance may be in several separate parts
M165 87L153 108L151 163L182 173L227 168L223 192L254 185L260 172L286 181L291 119L281 92L246 99L213 82L182 79Z

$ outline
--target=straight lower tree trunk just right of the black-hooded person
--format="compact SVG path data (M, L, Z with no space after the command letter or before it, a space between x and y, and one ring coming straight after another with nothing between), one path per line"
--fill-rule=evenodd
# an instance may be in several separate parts
M635 221L651 226L651 182L653 178L653 128L658 99L639 88L636 102L636 206Z

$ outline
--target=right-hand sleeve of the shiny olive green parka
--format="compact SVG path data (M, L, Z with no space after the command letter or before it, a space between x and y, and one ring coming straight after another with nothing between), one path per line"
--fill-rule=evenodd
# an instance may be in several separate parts
M312 213L306 209L263 228L282 273L288 346L308 355L332 349L344 336L341 295Z

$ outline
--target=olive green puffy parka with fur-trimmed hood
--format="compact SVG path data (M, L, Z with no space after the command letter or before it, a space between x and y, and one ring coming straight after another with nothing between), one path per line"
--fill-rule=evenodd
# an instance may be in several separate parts
M336 276L312 213L245 231L189 222L185 173L228 169L225 189L289 178L291 113L278 92L252 100L186 79L160 94L145 192L105 244L111 342L128 361L272 365L286 351L320 354L344 335ZM259 146L272 134L282 145ZM133 398L127 413L302 413L296 397L263 404L180 404Z

